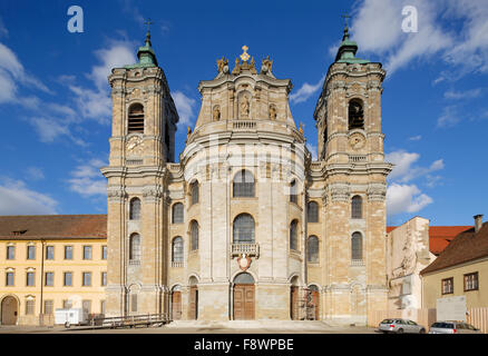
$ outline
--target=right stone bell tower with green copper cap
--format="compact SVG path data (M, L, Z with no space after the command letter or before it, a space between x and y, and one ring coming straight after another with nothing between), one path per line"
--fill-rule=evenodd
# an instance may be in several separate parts
M355 57L358 44L345 23L314 111L323 192L324 315L365 323L387 308L385 178L381 132L381 63Z

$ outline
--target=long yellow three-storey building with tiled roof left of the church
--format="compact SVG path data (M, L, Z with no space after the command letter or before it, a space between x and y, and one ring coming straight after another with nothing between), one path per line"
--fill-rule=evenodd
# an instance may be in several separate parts
M0 323L53 322L59 308L105 314L107 216L0 217Z

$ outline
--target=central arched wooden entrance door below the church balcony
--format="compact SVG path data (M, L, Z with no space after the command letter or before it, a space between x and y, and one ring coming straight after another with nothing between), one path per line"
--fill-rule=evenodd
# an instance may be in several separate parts
M234 320L254 319L254 278L240 274L234 278Z

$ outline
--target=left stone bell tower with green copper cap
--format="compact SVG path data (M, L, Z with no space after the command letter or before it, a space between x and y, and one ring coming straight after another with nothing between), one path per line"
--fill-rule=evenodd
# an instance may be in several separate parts
M167 263L166 164L175 158L178 113L149 30L138 61L108 77L113 130L108 179L107 314L164 313Z

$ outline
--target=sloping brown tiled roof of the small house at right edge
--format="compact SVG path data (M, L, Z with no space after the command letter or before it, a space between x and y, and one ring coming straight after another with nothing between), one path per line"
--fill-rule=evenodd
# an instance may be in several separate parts
M475 228L471 227L456 236L439 257L422 269L420 274L423 275L487 256L488 222L485 222L477 234L475 234Z

